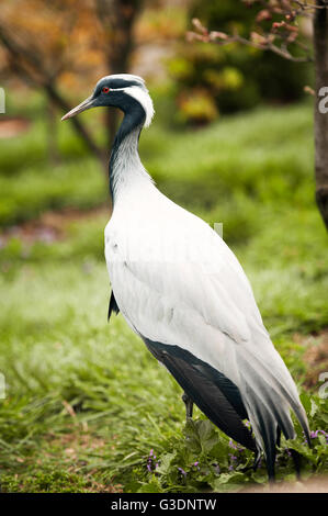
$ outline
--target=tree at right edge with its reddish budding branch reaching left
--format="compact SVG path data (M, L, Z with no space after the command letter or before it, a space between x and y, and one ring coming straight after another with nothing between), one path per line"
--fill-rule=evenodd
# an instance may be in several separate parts
M241 0L244 8L257 8L252 30L245 36L237 30L211 31L197 19L196 32L189 40L219 45L241 43L251 48L271 51L289 61L315 61L315 96L319 102L328 91L328 0ZM313 22L312 49L304 43L299 25L302 20ZM218 25L217 29L220 29ZM309 88L308 88L309 89ZM328 117L326 110L315 104L315 169L316 201L328 229Z

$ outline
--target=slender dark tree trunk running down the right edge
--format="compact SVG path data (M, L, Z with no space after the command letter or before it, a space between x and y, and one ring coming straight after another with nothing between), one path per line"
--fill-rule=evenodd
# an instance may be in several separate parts
M316 4L324 8L316 9L314 15L316 99L320 100L320 89L328 87L328 5L325 0L316 0ZM315 169L316 201L328 229L328 113L320 112L317 102L315 104Z

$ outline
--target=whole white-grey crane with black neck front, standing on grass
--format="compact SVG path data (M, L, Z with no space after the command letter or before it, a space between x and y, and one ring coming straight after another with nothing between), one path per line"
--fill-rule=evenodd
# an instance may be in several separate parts
M269 479L274 479L280 434L295 437L291 410L308 444L309 430L248 279L220 236L165 197L143 167L138 139L154 115L144 80L128 74L103 77L92 96L61 120L95 106L124 113L110 158L109 317L121 312L176 378L188 417L195 403L256 453L255 467L263 451Z

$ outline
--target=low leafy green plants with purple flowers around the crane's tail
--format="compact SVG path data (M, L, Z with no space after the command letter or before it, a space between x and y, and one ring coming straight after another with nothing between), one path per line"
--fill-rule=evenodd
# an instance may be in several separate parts
M308 410L310 428L323 429L327 426L328 404L317 396L302 394ZM325 472L328 468L328 433L312 431L312 447L304 440L297 426L297 438L282 441L276 456L278 481L295 478L291 449L301 455L302 474ZM261 461L253 471L253 453L236 445L206 419L189 420L183 437L172 438L169 452L150 456L145 464L135 470L138 480L126 485L127 491L151 492L224 492L240 491L250 484L267 482L265 463ZM283 474L282 474L283 472Z

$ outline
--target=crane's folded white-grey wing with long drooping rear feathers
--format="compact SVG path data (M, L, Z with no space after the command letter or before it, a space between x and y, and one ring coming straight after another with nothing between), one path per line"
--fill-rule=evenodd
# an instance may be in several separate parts
M172 206L165 217L142 223L136 217L120 232L109 224L105 256L117 305L183 389L188 382L186 392L192 391L200 407L210 403L210 382L239 418L248 415L272 462L278 427L286 438L294 437L290 407L308 435L296 386L270 340L235 255L202 220L179 206L171 214ZM202 400L195 399L195 390ZM214 412L219 406L214 405ZM247 437L235 423L231 426L245 444Z

